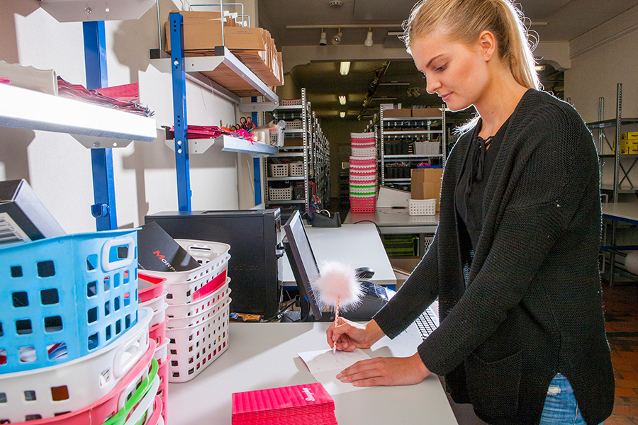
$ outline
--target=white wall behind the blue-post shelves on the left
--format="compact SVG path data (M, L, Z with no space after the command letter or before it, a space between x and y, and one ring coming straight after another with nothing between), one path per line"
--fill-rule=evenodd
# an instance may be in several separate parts
M170 10L181 8L179 0L159 3L162 25ZM250 4L255 13L254 0ZM0 0L0 40L0 60L55 69L69 82L86 84L82 23L58 23L37 0ZM155 6L138 21L108 21L106 45L109 86L139 82L140 102L155 111L158 127L172 125L170 76L149 67L148 60L149 49L159 45ZM189 83L186 96L189 123L237 122L235 106L211 91ZM242 208L252 206L247 205L252 176L238 163L246 159L217 147L191 154L193 210L239 208L238 185ZM113 149L119 226L140 225L147 213L177 210L174 164L163 137ZM26 179L67 232L95 229L90 152L69 135L0 128L0 180L5 179Z

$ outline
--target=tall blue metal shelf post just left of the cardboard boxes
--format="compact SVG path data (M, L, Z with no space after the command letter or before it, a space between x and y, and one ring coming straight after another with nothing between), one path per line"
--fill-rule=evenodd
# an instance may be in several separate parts
M180 13L170 13L177 205L180 211L190 211L191 177L189 170L189 139L186 135L188 121L186 120L183 21L184 19Z

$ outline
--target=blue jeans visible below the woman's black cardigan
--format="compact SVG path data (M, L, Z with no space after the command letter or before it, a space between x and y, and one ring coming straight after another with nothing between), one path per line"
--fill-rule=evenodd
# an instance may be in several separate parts
M549 382L539 425L586 425L569 380L560 373Z

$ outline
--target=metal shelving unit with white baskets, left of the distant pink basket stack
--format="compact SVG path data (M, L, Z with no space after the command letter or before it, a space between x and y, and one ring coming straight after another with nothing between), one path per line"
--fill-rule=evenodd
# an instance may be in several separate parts
M323 134L319 120L315 118L306 89L301 89L301 105L280 106L273 111L276 119L301 120L301 128L289 128L284 130L284 147L279 148L279 154L269 157L264 162L264 174L267 191L269 188L280 186L286 181L303 181L303 199L293 200L266 200L267 206L294 205L310 212L313 202L313 194L316 194L322 202L330 196L330 149L328 139ZM298 121L293 121L298 122ZM300 140L301 146L286 145L286 140ZM270 164L274 159L301 160L303 162L303 176L270 177ZM273 184L274 183L274 184ZM294 186L294 185L291 185ZM294 192L294 191L293 191ZM321 205L322 208L324 205Z

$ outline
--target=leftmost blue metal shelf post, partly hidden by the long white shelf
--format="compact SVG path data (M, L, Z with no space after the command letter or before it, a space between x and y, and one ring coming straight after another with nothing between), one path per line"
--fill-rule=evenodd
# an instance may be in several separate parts
M106 33L104 21L84 22L84 67L86 88L100 89L108 86L106 73ZM97 230L118 228L113 177L113 153L111 149L91 149L93 192L95 204L91 214Z

